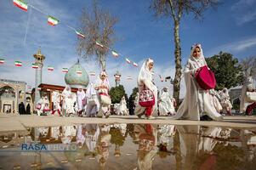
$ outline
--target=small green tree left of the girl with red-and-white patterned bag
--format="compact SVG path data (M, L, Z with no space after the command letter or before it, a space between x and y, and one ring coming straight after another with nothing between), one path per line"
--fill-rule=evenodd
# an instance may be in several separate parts
M126 101L128 100L127 94L125 94L125 90L122 85L111 88L110 95L112 104L119 103L122 96L125 96Z

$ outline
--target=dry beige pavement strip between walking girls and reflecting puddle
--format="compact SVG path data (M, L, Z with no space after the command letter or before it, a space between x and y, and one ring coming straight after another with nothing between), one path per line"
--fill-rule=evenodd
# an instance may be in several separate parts
M157 123L174 125L202 125L218 127L255 128L256 116L225 116L222 122L170 120L169 117L159 116L154 120L138 119L137 116L96 117L60 117L36 115L6 115L0 114L0 132L26 130L26 127L63 126L81 123Z

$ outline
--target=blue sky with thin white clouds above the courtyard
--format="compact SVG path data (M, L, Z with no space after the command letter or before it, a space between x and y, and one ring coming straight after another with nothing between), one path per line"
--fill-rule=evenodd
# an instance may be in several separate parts
M0 78L25 81L34 85L35 71L31 69L32 54L41 46L46 55L45 66L54 65L55 71L43 71L43 82L65 85L62 67L70 67L77 61L77 36L65 26L66 23L79 29L82 8L91 4L90 0L27 0L31 5L53 15L60 25L48 26L47 16L30 8L27 12L13 5L12 0L0 1L0 58L6 59L0 65ZM65 2L65 3L64 3ZM156 73L162 76L174 75L173 20L154 18L149 9L151 1L100 0L100 7L110 10L119 18L115 26L119 41L112 47L142 64L151 57L156 62ZM256 1L225 0L219 8L208 9L204 20L195 20L193 15L185 15L180 25L182 63L185 64L193 43L202 43L206 57L218 54L220 50L234 54L238 59L256 56ZM27 33L26 33L27 32ZM25 38L26 37L26 38ZM26 39L26 41L25 41ZM107 71L111 76L122 72L122 84L130 94L136 86L139 69L129 66L123 58L113 59L109 54ZM14 60L23 61L21 68L14 67ZM93 61L82 61L87 71L98 71ZM26 75L26 76L25 76ZM127 81L125 77L134 79ZM159 82L158 87L169 86ZM92 78L94 81L94 78ZM184 86L184 85L182 85Z

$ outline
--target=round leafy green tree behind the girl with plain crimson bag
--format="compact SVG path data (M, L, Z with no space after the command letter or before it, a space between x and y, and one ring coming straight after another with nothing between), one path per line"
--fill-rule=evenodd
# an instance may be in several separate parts
M232 54L219 52L207 58L206 62L215 74L217 90L235 87L242 83L242 67L238 65L238 59Z

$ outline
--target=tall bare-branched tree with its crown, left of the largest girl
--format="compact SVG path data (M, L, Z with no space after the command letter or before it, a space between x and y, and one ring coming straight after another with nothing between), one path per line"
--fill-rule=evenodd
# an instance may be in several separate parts
M211 6L217 6L218 0L152 0L151 8L156 16L173 20L175 45L175 77L174 99L179 104L179 90L181 81L181 48L179 39L179 23L185 14L194 14L196 19L202 18L203 12Z

